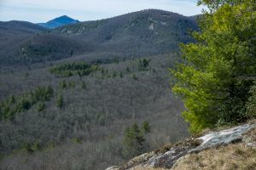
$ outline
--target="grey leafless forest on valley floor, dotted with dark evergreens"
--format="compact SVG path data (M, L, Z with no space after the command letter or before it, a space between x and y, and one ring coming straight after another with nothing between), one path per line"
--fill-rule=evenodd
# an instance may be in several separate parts
M127 161L135 122L150 124L145 151L189 134L169 88L177 54L76 59L1 70L0 167L104 169Z

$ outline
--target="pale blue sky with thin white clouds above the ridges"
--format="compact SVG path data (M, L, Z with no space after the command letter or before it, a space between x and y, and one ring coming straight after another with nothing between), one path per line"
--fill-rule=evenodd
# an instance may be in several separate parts
M0 0L0 20L46 22L61 15L100 20L143 9L163 9L186 16L201 14L197 0Z

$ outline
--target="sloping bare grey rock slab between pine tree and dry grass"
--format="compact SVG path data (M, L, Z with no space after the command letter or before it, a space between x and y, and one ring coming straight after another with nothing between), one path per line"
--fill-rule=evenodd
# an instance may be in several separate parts
M162 167L170 169L179 159L191 153L216 147L219 145L243 142L249 147L256 147L256 134L247 134L256 128L256 123L245 124L218 132L207 133L198 139L187 139L173 144L169 150L155 150L128 161L123 167L114 167L115 170L152 169ZM255 132L255 131L254 131ZM111 169L111 168L110 168ZM109 170L109 169L107 169ZM112 170L112 169L111 169Z

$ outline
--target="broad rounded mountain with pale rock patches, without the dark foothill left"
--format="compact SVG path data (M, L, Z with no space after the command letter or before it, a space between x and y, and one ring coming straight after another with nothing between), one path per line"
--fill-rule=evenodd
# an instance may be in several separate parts
M195 20L180 14L148 9L107 20L82 22L57 28L87 42L102 43L103 48L130 54L159 54L189 42L188 31L197 28Z

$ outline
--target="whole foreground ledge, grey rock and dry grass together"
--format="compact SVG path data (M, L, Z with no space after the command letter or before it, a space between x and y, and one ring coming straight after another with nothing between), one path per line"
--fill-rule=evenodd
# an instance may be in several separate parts
M246 153L247 156L242 156L241 153ZM230 155L236 155L232 164L221 163ZM256 123L207 133L201 138L187 139L178 144L169 144L161 150L137 156L123 167L109 167L107 170L202 169L201 167L228 169L230 165L243 169L256 167Z

